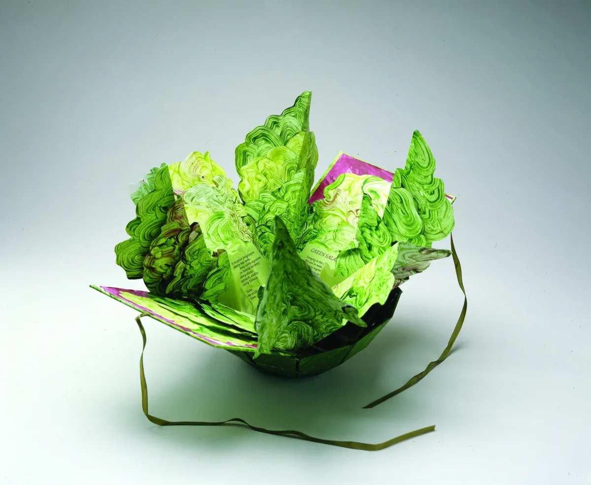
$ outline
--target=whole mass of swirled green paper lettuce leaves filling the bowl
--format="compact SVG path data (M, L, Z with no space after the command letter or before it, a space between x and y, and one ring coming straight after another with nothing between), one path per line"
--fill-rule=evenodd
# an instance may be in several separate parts
M144 177L131 196L131 239L115 252L128 278L143 277L151 293L129 301L147 298L144 305L194 325L216 346L236 338L254 349L258 333L256 356L294 352L347 321L365 326L360 317L371 305L450 255L430 247L452 230L453 211L418 131L392 183L346 172L308 203L318 161L310 103L304 92L236 147L238 190L209 152Z

